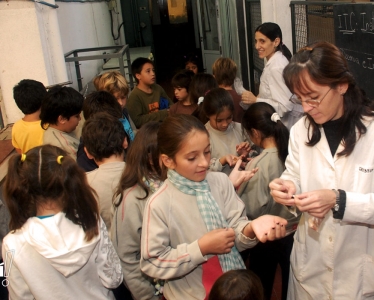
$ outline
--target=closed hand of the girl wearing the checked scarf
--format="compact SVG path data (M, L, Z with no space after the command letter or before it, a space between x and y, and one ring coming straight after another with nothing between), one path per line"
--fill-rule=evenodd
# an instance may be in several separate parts
M232 228L215 229L198 240L202 255L230 253L234 247L235 232Z

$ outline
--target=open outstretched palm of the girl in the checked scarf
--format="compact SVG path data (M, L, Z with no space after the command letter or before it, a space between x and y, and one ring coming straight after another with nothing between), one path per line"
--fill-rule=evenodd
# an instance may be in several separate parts
M286 225L287 220L281 217L263 215L244 227L243 234L249 238L256 236L260 242L265 243L284 237Z

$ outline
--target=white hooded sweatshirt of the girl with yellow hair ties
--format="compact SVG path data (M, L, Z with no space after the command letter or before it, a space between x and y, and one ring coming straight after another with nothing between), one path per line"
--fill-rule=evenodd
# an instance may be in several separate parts
M10 251L11 264L5 259ZM99 235L87 242L81 226L62 212L32 217L4 238L2 253L10 267L9 299L114 299L109 289L123 280L102 220Z

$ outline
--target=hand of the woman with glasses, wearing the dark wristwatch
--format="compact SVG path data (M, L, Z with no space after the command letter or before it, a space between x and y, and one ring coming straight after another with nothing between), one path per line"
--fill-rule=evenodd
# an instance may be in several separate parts
M306 211L317 218L324 218L336 203L336 194L332 190L315 190L295 195L295 205L300 211Z

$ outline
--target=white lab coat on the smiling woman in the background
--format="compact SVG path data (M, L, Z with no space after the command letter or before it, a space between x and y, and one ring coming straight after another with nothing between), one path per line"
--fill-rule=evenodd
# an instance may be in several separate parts
M274 107L284 125L290 130L304 114L299 104L289 101L292 93L283 79L283 69L288 65L287 58L277 51L266 61L260 79L260 89L256 102L266 102Z

